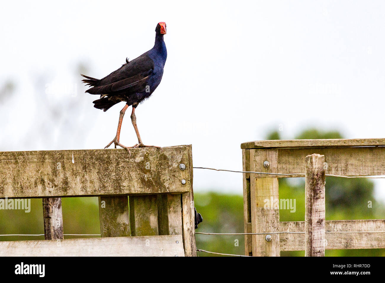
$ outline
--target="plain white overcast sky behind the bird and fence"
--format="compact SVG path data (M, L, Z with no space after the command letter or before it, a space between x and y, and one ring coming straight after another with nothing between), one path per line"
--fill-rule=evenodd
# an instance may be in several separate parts
M0 104L0 151L104 147L124 103L93 108L77 66L104 77L151 49L160 21L168 57L136 111L144 143L192 144L195 166L241 169L241 142L280 124L283 138L310 126L384 137L384 14L382 1L4 2L0 89L16 90ZM127 115L121 142L136 141ZM241 193L242 176L196 169L202 189Z

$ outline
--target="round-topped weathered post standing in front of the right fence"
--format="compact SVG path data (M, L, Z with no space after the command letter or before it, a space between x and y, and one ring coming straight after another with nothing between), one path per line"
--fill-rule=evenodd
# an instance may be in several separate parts
M305 256L325 256L325 156L305 161Z

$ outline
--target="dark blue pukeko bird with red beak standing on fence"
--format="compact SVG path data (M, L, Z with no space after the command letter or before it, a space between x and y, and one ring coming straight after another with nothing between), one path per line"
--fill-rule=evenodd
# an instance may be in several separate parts
M129 148L134 147L158 147L146 146L143 144L136 125L135 109L143 100L149 98L160 84L163 75L163 67L166 63L167 50L163 40L166 34L166 23L160 22L155 28L155 44L152 49L140 55L134 60L129 61L119 69L107 75L103 79L95 79L93 77L85 77L82 80L86 85L90 85L90 89L86 90L90 94L99 94L100 99L95 100L94 107L107 111L113 105L124 101L126 105L120 112L118 129L115 138L107 144L109 147L112 143L116 146L123 147L130 151ZM127 147L119 142L120 131L123 121L124 112L132 105L131 121L134 126L138 143L134 146ZM159 148L159 147L158 147Z

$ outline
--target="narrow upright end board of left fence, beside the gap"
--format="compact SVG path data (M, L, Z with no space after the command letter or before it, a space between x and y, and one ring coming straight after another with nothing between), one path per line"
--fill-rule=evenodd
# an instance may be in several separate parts
M194 192L192 189L192 147L189 146L189 166L186 164L186 170L189 171L191 178L191 189L188 193L182 194L182 229L183 244L185 256L197 256L195 244L195 222L194 222Z

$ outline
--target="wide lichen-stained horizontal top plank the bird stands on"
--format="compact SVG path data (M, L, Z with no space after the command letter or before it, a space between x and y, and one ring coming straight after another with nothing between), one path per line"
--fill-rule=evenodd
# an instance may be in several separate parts
M0 198L183 193L189 146L0 152ZM186 180L186 184L181 183Z

